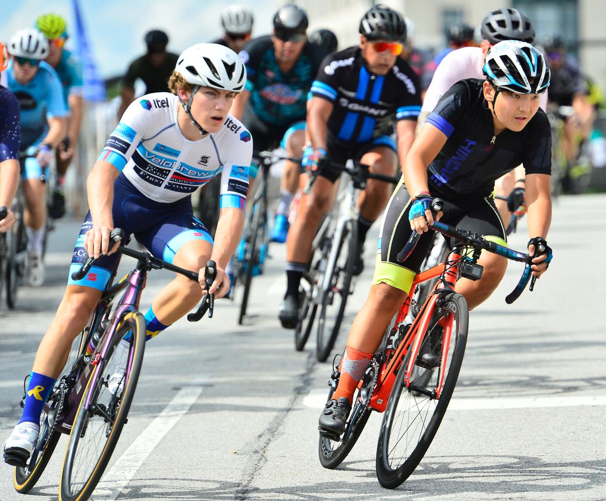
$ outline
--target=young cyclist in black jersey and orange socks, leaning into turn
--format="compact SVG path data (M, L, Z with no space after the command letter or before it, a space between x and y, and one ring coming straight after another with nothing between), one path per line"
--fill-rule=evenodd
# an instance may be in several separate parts
M406 188L401 183L388 205L373 285L351 327L334 400L320 416L323 430L344 431L359 381L356 374L364 375L429 250L427 224L433 223L434 197L445 200L436 218L506 245L502 220L489 195L498 177L524 163L532 275L540 277L551 261L545 241L551 222L551 133L547 116L539 110L549 70L532 45L502 41L488 52L484 72L487 80L461 80L442 96L410 148L402 169ZM413 254L400 263L396 255L413 231L422 236ZM545 244L545 254L536 255L539 243ZM507 266L505 258L488 252L482 252L478 263L484 266L481 280L461 278L456 286L470 310L491 295ZM439 363L437 353L427 355L424 362Z

